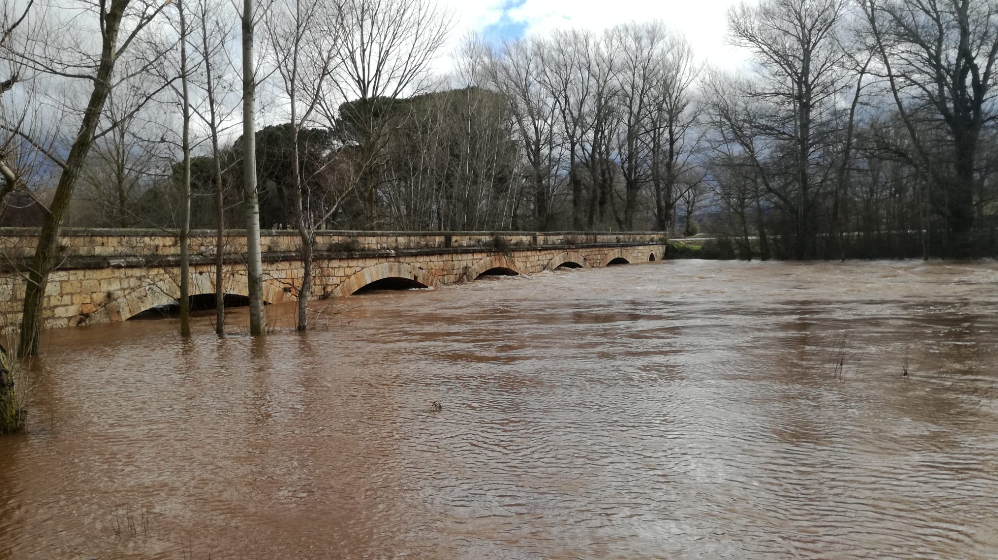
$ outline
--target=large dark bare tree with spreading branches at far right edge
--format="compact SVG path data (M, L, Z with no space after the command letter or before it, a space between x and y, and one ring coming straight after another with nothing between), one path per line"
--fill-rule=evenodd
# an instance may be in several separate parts
M860 5L915 160L935 185L933 205L946 219L951 252L968 256L981 182L980 142L995 116L998 2L863 0ZM933 126L920 127L926 120ZM943 157L929 145L940 132L948 143Z

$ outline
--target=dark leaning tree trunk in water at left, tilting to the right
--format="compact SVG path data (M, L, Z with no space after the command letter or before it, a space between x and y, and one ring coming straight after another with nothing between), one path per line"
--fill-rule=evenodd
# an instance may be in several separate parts
M42 308L45 303L45 289L48 287L49 273L56 258L56 247L62 222L69 210L73 198L73 190L80 176L80 170L87 159L90 146L94 143L94 133L101 120L104 103L111 93L112 73L115 68L115 56L118 43L118 31L122 15L128 7L128 0L113 0L111 9L104 18L104 36L101 49L101 62L94 79L94 91L90 95L87 109L80 123L80 131L69 150L66 166L59 175L56 192L49 204L49 213L38 234L38 246L35 248L35 258L28 274L28 284L24 296L24 307L21 315L21 336L17 347L20 358L38 355L38 336L42 330Z

